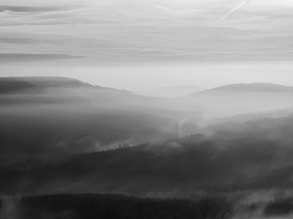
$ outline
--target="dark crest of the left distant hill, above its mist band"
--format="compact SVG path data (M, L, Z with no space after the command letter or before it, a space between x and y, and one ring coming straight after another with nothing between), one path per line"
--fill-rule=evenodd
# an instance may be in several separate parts
M7 77L0 78L0 94L18 92L38 92L48 88L93 88L107 89L118 92L132 93L126 90L101 87L78 79L65 77Z

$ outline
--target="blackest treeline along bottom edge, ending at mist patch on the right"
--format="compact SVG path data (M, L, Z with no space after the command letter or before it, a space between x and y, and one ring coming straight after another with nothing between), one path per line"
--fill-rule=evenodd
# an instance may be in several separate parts
M191 201L110 194L59 194L9 199L14 205L14 214L23 219L228 219L233 214L231 201L224 198ZM4 199L1 204L4 210L5 202L8 201Z

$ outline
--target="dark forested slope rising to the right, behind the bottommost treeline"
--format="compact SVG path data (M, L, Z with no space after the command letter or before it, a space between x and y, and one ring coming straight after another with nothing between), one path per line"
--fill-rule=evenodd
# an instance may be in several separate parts
M293 118L214 126L201 134L0 170L0 192L111 192L138 196L291 188ZM20 163L21 166L21 163Z

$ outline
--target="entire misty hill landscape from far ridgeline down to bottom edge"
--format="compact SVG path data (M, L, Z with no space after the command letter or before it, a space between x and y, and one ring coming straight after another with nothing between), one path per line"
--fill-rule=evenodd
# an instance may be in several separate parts
M293 87L164 92L1 78L0 219L292 216Z

